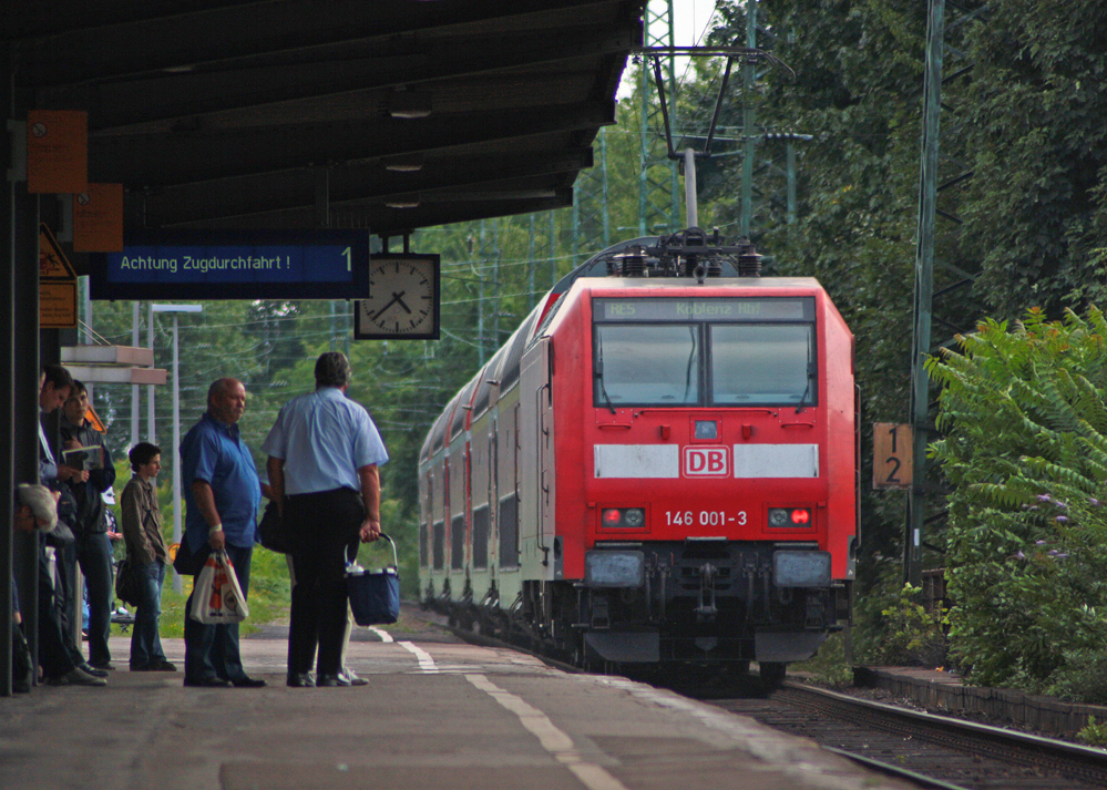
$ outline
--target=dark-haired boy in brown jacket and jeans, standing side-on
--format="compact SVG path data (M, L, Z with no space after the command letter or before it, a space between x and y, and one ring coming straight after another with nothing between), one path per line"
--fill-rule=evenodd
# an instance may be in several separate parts
M133 474L121 497L123 540L126 556L142 577L140 601L131 632L131 671L176 671L165 659L158 620L162 615L162 584L168 551L162 535L162 511L157 504L154 478L162 470L162 449L139 442L129 453Z

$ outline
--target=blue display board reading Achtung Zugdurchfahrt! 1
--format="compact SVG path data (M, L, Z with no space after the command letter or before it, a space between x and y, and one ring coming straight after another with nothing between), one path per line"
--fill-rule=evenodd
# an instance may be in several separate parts
M161 230L89 256L93 299L361 299L368 230Z

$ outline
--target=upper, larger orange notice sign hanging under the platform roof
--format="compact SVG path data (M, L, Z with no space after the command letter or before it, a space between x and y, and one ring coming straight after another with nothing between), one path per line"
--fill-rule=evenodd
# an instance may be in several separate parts
M27 114L27 191L60 195L89 188L89 113Z

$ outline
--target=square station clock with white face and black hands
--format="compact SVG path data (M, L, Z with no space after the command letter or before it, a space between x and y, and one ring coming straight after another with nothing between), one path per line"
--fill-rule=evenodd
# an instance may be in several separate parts
M358 339L438 338L437 255L380 255L369 261L368 299L355 307Z

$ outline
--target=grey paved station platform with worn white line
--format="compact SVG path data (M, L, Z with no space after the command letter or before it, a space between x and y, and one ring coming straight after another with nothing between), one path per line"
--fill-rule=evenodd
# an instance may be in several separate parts
M625 678L457 640L408 613L355 632L369 684L285 686L287 629L242 642L268 687L185 688L183 671L0 698L4 790L861 790L910 787L812 741ZM183 667L184 643L163 640Z

